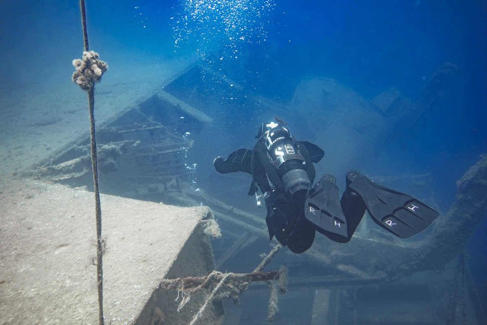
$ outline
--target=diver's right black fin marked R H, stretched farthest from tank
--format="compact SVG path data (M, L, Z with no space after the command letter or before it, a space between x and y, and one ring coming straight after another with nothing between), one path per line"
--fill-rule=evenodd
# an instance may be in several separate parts
M394 235L407 238L427 228L439 213L404 193L381 186L359 172L346 175L352 194L358 194L372 219Z

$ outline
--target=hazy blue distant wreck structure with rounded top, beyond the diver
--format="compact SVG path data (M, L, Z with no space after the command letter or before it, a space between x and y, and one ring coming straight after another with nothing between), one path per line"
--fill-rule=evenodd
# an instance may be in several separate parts
M372 153L382 147L384 139L397 139L399 131L405 134L405 128L415 129L425 112L438 107L445 95L454 93L451 84L457 70L451 63L439 67L417 103L397 89L386 90L369 101L333 79L303 78L292 100L294 115L309 126L310 141L334 157L317 166L317 175L343 175L346 166L373 159Z

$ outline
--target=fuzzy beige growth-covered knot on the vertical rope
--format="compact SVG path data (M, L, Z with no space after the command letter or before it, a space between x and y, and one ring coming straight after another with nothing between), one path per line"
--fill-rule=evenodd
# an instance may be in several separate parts
M90 90L95 82L101 80L101 76L108 69L108 64L99 59L95 51L84 51L82 59L74 59L73 66L76 71L73 73L73 82L83 90Z

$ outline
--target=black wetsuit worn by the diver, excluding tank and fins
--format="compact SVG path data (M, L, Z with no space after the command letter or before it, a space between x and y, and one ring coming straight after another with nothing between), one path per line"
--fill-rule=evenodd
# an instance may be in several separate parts
M295 144L306 161L306 173L312 184L316 177L313 164L319 163L324 152L317 145L307 141L296 141ZM267 152L261 137L253 150L238 149L230 153L226 159L221 157L215 159L215 169L222 174L240 171L252 175L253 180L248 194L253 196L257 192L256 185L262 193L268 193L264 201L267 208L266 223L269 238L275 236L280 243L287 245L293 252L303 252L312 245L316 227L304 217L305 202L292 201L285 194L281 179L269 161ZM324 181L333 180L328 178ZM365 206L346 190L340 202L343 211L346 211L345 216L349 224L347 237L331 232L322 233L334 241L348 242L364 215Z

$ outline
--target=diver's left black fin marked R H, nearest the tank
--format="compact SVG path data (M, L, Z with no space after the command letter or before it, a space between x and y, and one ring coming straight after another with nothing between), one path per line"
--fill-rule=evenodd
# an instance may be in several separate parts
M325 174L308 191L304 216L315 225L318 232L323 235L336 234L344 240L347 238L347 224L335 182L335 177Z

